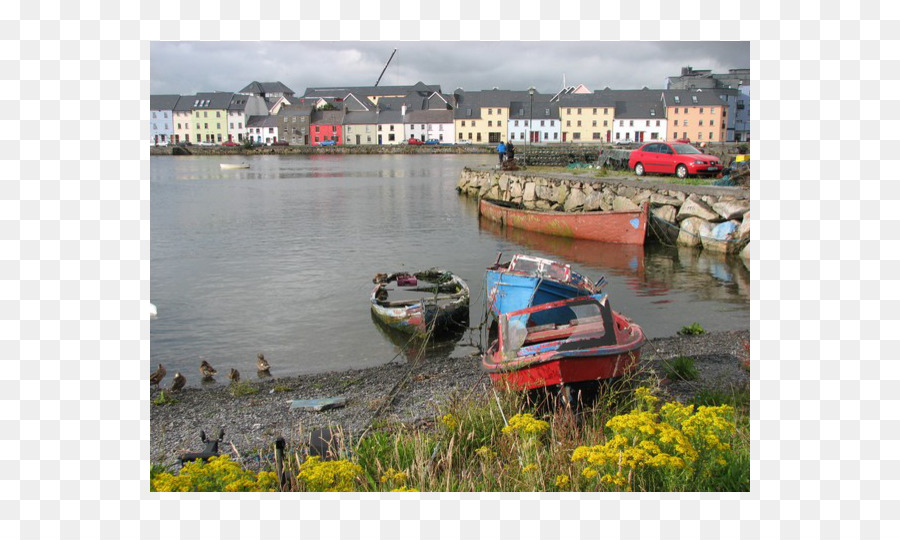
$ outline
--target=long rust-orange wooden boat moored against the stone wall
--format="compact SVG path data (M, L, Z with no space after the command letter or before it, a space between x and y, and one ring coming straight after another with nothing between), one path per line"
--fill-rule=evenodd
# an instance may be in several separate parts
M650 203L638 210L550 212L526 210L518 204L481 199L478 210L491 221L526 231L614 244L641 244L647 237Z

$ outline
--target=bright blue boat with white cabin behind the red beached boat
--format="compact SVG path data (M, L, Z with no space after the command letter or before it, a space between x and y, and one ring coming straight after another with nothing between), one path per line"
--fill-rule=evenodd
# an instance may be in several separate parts
M499 262L485 272L485 290L494 315L597 294L605 283L597 283L572 270L568 264L517 253L507 263Z

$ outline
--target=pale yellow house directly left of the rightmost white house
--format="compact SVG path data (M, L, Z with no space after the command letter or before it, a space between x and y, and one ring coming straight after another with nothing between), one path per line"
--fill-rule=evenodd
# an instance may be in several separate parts
M611 140L615 100L598 92L558 97L561 142L598 144Z

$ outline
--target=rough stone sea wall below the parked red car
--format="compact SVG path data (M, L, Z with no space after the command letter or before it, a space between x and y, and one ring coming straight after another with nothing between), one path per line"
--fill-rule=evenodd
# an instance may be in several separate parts
M625 177L466 168L459 193L520 204L529 210L591 212L634 210L650 202L655 239L749 260L750 193L742 188L653 184Z

